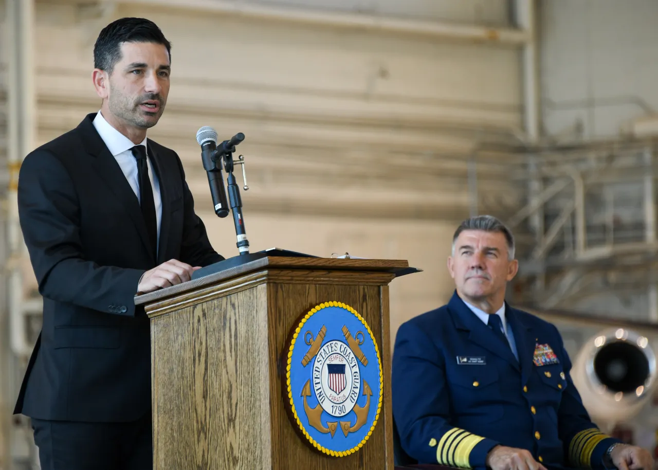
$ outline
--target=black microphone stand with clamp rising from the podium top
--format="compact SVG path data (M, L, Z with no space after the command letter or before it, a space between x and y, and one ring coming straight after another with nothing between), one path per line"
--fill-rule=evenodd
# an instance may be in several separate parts
M239 160L233 159L233 153L236 151L236 145L244 140L245 136L241 132L233 136L230 140L224 140L221 145L217 146L215 160L224 160L224 169L228 174L226 181L228 182L228 200L233 213L233 223L236 226L236 238L238 239L238 250L240 255L249 254L249 240L247 239L247 232L245 230L245 219L242 215L242 198L240 197L240 188L236 182L236 177L233 176L234 165L242 165L242 179L244 181L243 189L249 190L247 186L247 174L245 172L245 157L240 155Z

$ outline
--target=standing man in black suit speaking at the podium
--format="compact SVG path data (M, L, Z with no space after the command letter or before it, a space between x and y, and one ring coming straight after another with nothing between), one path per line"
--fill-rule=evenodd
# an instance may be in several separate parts
M138 292L221 261L178 155L147 139L169 91L170 43L149 20L94 47L102 105L20 169L20 225L43 328L14 413L32 418L45 470L150 469L149 321Z

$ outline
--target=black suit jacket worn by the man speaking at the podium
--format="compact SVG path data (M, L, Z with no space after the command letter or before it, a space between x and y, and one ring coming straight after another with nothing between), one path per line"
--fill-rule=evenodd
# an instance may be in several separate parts
M138 199L93 126L28 155L18 176L20 226L43 296L43 327L14 413L36 419L132 421L151 407L149 321L139 278L178 259L206 266L212 248L178 155L148 140L159 176L158 259Z

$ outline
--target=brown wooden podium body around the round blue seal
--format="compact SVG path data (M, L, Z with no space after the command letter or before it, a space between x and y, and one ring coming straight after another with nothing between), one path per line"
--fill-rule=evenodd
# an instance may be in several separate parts
M153 468L393 469L388 284L407 261L263 257L136 297L151 322ZM291 329L314 305L351 305L367 322L384 376L363 448L318 452L286 409Z

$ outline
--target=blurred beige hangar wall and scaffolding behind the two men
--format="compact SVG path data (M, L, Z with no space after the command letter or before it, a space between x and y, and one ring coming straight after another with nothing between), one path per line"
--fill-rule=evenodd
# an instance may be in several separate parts
M38 468L11 416L41 315L18 168L98 111L93 43L121 16L173 43L149 137L178 151L224 256L238 250L211 207L204 125L246 136L252 251L424 269L392 285L392 338L448 300L452 233L490 213L519 244L509 300L555 321L572 359L604 327L658 347L655 0L0 0L0 470ZM653 450L641 394L615 432Z

